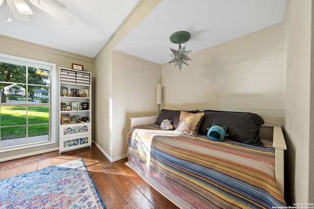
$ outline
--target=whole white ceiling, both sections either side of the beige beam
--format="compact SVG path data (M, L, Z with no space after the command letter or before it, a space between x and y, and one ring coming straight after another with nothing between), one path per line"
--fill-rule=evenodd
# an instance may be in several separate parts
M0 34L94 58L141 0L45 0L75 19L66 25L33 6L30 22L5 23L0 6ZM162 0L117 46L116 50L157 64L171 60L169 37L191 34L192 53L282 23L287 0ZM184 45L184 44L183 44ZM1 46L0 46L1 47ZM191 54L192 54L191 53Z

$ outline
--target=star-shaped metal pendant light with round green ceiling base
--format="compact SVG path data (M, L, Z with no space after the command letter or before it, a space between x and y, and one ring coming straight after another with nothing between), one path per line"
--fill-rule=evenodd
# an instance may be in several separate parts
M185 46L181 47L182 43L187 42L190 39L190 34L186 31L178 31L173 33L170 36L170 41L174 44L179 44L178 50L170 48L173 54L170 54L170 56L173 57L173 59L169 63L175 63L175 67L178 65L179 70L181 71L182 64L187 64L187 60L191 60L190 58L187 57L189 53L191 53L192 50L190 51L185 51Z

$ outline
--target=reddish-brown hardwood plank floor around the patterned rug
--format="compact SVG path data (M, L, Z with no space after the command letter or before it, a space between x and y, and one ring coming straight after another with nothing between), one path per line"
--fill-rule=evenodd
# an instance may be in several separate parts
M178 209L125 165L127 158L111 163L94 144L61 155L54 151L1 162L0 180L78 158L84 161L107 209Z

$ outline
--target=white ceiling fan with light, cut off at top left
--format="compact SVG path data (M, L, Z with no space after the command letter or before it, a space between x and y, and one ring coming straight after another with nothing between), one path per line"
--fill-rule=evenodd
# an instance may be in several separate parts
M62 21L65 24L71 25L74 23L73 18L64 14L59 9L53 7L44 0L28 0L28 1L32 3L34 6L38 7L39 9L50 14L52 17ZM3 0L0 0L0 5L2 4L2 2ZM25 2L25 0L6 0L6 2L8 10L8 18L6 20L6 23L12 22L10 18L10 12L12 12L13 17L17 20L30 22L28 15L33 14L33 12L31 11L30 7ZM13 3L15 6L11 5Z

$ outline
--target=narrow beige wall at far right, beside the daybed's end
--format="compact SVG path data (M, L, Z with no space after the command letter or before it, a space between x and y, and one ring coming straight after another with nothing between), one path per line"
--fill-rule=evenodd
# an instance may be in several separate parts
M311 0L289 0L286 33L285 137L288 201L313 203L313 78L311 83ZM312 91L311 91L312 86ZM312 103L311 103L312 101ZM312 131L312 135L310 132ZM313 155L311 155L313 157ZM313 163L313 158L311 159ZM312 190L312 193L310 193ZM312 202L311 202L312 201Z

